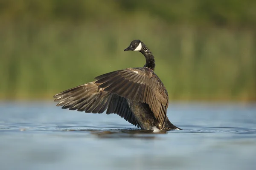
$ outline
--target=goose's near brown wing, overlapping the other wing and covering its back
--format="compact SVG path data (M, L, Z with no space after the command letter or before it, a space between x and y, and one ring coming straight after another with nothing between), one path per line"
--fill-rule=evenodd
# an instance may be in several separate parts
M149 68L127 68L96 77L99 88L111 94L145 102L151 108L160 126L166 120L168 93L161 80Z

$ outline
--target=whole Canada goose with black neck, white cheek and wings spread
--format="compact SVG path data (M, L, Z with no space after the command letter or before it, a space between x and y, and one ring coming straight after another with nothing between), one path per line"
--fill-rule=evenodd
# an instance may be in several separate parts
M95 81L56 94L57 106L86 113L116 113L145 130L177 129L166 116L168 93L154 73L154 56L140 40L124 51L140 51L146 59L141 68L126 68L96 77Z

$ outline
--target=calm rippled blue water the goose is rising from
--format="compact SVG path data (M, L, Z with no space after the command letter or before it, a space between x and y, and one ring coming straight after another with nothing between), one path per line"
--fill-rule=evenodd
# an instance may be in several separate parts
M160 134L55 104L0 103L1 170L256 169L256 103L174 102Z

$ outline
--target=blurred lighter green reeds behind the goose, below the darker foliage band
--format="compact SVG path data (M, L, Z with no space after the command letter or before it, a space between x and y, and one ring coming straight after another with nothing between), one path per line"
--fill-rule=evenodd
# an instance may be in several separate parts
M102 25L8 24L0 27L0 39L3 100L52 99L100 74L143 66L140 53L123 51L134 39L153 52L169 99L256 99L256 32L251 29L168 26L154 19L149 25L136 18Z

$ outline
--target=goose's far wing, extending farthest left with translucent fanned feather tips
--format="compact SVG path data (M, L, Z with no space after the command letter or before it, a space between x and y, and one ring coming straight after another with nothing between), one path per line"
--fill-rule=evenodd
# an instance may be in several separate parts
M138 124L131 112L124 97L103 91L98 87L99 84L89 82L75 88L56 94L54 101L59 102L57 106L69 110L85 111L86 113L103 113L107 108L107 114L116 113L133 125Z

